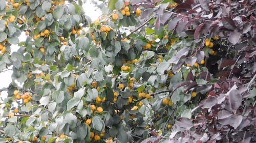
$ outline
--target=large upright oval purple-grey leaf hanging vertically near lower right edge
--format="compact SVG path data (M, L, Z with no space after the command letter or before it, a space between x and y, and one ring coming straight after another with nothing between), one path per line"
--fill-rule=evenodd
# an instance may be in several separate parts
M242 103L242 96L237 89L233 89L229 92L228 99L233 110L237 110Z

